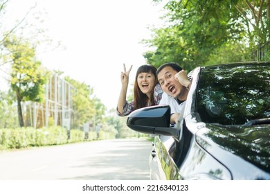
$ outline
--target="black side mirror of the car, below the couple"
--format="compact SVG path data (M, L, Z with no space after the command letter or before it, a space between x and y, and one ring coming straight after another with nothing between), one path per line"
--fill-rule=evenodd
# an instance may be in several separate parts
M179 130L170 127L170 106L156 105L136 109L129 114L127 126L136 132L177 136Z

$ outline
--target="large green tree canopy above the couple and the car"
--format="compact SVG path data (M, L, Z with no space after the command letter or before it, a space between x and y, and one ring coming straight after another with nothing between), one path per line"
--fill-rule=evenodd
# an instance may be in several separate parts
M166 2L165 27L152 28L152 39L143 40L154 48L144 57L156 67L178 62L189 71L212 62L250 60L255 45L270 39L267 1Z

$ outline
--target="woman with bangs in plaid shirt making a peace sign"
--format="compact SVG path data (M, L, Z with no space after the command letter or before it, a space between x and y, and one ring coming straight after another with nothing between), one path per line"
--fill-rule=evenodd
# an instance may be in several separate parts
M116 109L118 116L127 116L135 109L142 107L159 105L163 93L156 79L156 67L144 64L137 70L134 83L134 98L131 103L128 103L126 98L131 70L132 66L127 71L124 64L124 72L121 72L122 88Z

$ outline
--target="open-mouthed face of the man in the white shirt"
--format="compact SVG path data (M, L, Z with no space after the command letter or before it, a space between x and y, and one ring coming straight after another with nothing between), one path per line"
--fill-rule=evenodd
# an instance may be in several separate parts
M164 67L157 75L157 78L161 85L161 89L166 94L174 98L179 98L183 86L174 78L176 73L177 71L172 69L172 67Z

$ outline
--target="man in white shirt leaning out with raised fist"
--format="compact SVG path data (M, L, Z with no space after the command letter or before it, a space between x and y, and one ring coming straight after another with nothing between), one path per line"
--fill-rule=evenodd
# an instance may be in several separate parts
M179 64L170 62L157 69L156 77L164 91L159 105L170 105L170 123L177 123L190 87L190 80L188 80L186 71Z

